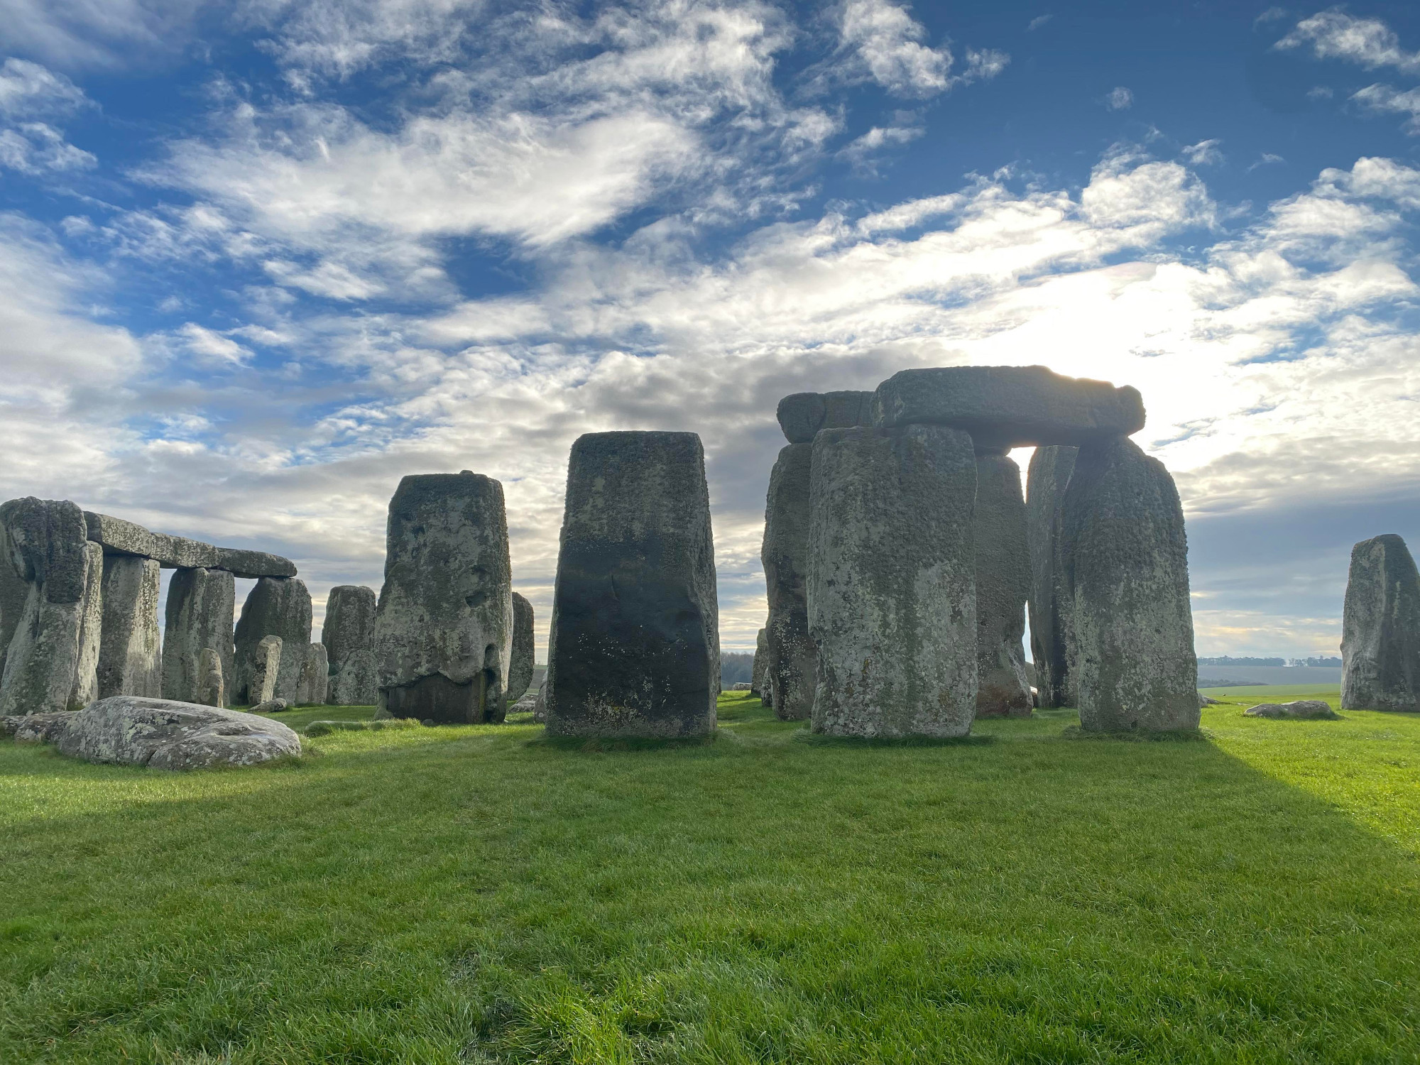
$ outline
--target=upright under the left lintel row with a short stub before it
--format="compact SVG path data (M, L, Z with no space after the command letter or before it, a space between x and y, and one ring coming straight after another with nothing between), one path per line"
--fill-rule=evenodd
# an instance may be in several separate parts
M222 659L227 699L246 701L234 687L231 615L237 582L226 569L179 569L168 584L168 625L163 630L163 697L197 700L202 652Z

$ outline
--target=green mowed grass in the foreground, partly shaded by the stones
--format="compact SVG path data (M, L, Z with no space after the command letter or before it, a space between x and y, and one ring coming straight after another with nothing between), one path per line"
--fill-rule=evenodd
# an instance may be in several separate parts
M0 743L0 1061L1420 1061L1420 720L1252 701L861 744L727 693L703 744L186 775Z

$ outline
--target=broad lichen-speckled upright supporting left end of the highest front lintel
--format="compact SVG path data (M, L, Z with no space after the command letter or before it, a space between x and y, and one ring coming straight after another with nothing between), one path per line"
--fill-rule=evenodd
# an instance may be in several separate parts
M825 429L812 469L814 731L966 736L977 696L971 437Z

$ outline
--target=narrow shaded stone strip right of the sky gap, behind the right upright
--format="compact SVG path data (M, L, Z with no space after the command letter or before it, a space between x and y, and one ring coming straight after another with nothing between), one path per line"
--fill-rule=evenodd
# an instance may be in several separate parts
M1025 531L1031 550L1031 660L1041 706L1075 706L1071 660L1075 601L1065 578L1061 518L1075 470L1075 447L1037 447L1025 487Z

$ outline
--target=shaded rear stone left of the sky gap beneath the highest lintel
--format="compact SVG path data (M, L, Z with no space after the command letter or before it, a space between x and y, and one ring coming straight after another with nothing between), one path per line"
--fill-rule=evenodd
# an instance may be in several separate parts
M1030 717L1025 601L1031 555L1025 541L1021 467L1003 452L977 456L977 717Z

